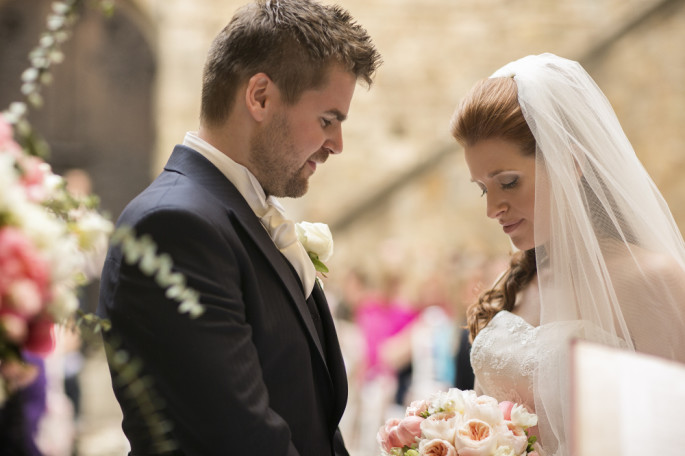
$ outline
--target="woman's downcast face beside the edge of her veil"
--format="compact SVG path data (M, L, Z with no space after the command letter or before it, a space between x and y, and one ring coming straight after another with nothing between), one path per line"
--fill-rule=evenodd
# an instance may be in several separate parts
M471 180L487 200L487 216L500 223L518 249L535 247L535 155L502 139L467 146L464 155Z

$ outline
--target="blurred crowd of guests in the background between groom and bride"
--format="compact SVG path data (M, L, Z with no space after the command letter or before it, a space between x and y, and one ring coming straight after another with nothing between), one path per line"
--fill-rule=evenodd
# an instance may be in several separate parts
M508 261L455 254L418 272L379 258L373 271L337 271L325 288L347 368L341 431L353 456L378 454L379 427L413 400L473 388L466 308Z

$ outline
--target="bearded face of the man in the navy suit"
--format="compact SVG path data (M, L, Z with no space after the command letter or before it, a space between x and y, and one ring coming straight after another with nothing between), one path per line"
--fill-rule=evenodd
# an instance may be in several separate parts
M317 166L342 152L342 122L355 86L354 74L334 66L322 87L304 91L296 103L275 101L251 141L251 169L267 195L304 195Z

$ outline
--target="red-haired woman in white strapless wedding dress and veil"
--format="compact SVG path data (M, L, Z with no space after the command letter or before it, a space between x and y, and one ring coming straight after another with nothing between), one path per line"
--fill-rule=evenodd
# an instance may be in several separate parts
M511 62L452 119L487 216L516 248L468 312L479 392L525 404L569 454L569 341L685 362L685 244L604 94L576 62Z

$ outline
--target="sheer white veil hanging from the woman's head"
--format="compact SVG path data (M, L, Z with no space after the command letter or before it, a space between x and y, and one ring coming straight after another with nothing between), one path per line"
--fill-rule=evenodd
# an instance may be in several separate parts
M535 406L546 453L568 454L568 339L685 362L685 244L611 105L577 62L528 56L492 77L514 78L537 143Z

